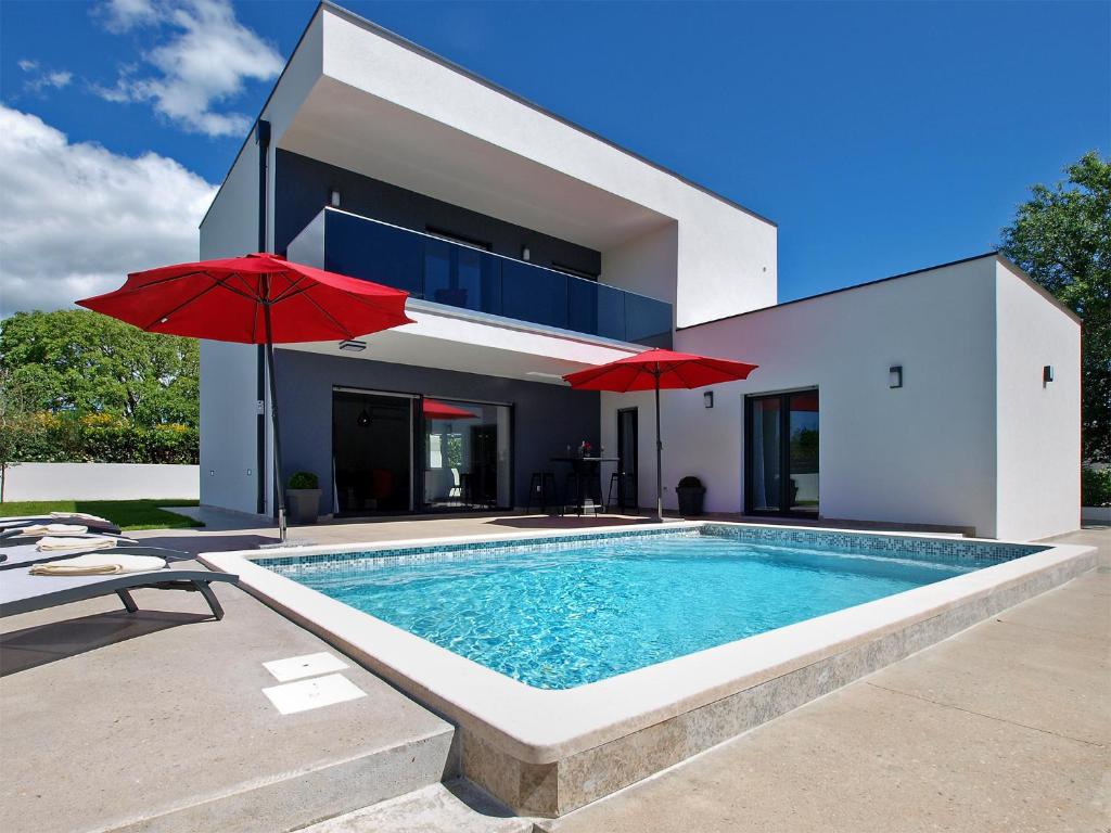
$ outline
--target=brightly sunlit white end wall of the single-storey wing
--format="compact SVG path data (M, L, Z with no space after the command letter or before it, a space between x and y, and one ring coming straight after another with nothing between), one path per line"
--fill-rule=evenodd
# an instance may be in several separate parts
M1045 538L1080 526L1080 324L998 270L998 532Z

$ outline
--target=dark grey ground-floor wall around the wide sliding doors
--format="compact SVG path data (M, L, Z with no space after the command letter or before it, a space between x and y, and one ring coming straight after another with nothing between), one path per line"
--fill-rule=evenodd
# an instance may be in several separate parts
M368 350L372 349L371 342ZM293 350L277 350L274 361L282 482L296 471L314 472L323 490L321 510L326 513L332 505L333 385L512 404L513 494L519 506L528 500L531 472L554 471L562 483L565 466L554 465L550 459L565 454L569 444L589 440L598 448L600 442L597 392Z

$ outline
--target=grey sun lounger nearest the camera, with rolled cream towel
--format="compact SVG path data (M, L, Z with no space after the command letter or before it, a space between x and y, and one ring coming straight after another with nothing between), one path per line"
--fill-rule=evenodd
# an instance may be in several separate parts
M139 553L140 549L127 548L126 553ZM101 551L98 554L103 554ZM152 554L152 553L151 553ZM161 553L159 553L161 555ZM70 553L72 555L72 553ZM51 563L64 563L64 559ZM223 608L212 592L211 583L226 581L236 584L239 576L220 573L201 566L186 566L168 562L161 570L114 575L33 575L31 566L20 566L0 572L0 616L46 610L70 602L81 602L113 593L123 602L128 613L136 613L139 606L131 598L131 590L149 588L154 590L186 590L200 593L208 602L216 619L223 619Z

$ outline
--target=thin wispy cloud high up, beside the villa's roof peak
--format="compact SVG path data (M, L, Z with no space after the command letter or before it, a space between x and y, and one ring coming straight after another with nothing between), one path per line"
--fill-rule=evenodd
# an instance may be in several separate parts
M277 77L284 64L273 46L239 22L229 0L113 0L106 14L113 31L157 26L172 34L143 56L152 73L126 67L114 86L93 89L109 101L148 101L194 132L247 132L249 116L214 106L238 97L244 81Z

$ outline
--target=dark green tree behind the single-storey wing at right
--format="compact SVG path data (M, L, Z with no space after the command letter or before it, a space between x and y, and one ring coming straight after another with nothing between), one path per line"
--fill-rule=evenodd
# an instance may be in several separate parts
M1095 151L1068 180L1033 185L1000 250L1083 319L1083 453L1111 462L1111 160Z

